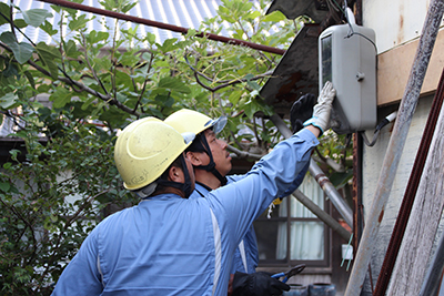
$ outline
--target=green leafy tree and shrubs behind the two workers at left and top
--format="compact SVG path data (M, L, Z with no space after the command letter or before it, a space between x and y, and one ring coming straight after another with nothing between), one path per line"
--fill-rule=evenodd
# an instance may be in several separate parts
M100 3L123 13L134 6ZM264 16L264 9L263 0L261 8L222 0L199 30L218 34L228 22L235 39L285 49L300 20ZM60 22L50 23L56 13ZM0 120L13 123L11 139L22 143L0 171L2 294L49 295L103 210L137 203L112 159L117 132L129 122L189 108L228 115L222 136L239 150L264 154L282 139L271 122L254 119L258 111L273 113L258 93L281 57L199 38L194 30L160 44L120 20L89 31L92 18L57 6L22 11L0 3L0 25L10 28L0 35ZM28 25L53 42L18 42ZM280 30L270 35L272 25Z

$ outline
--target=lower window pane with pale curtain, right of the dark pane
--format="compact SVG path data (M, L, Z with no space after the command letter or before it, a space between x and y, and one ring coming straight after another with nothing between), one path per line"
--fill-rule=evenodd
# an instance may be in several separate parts
M322 222L292 222L290 237L292 261L324 259L324 224Z

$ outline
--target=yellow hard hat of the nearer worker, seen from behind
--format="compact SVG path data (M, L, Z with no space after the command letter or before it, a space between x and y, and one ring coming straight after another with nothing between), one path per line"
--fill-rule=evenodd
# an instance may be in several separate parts
M163 121L144 118L118 136L114 162L127 190L139 190L159 178L192 143L193 133L181 134Z

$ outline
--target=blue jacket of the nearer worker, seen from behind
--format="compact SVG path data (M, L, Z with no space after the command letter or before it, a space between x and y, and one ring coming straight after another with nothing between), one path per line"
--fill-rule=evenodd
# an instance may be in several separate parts
M226 296L239 243L306 170L317 144L302 130L206 198L157 195L108 216L64 268L53 295Z

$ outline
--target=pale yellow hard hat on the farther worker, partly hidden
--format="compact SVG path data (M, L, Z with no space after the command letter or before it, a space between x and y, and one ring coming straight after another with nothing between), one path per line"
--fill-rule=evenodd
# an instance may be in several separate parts
M180 133L199 134L209 127L213 127L214 133L219 133L226 124L226 116L212 120L198 111L182 109L168 116L164 122Z

